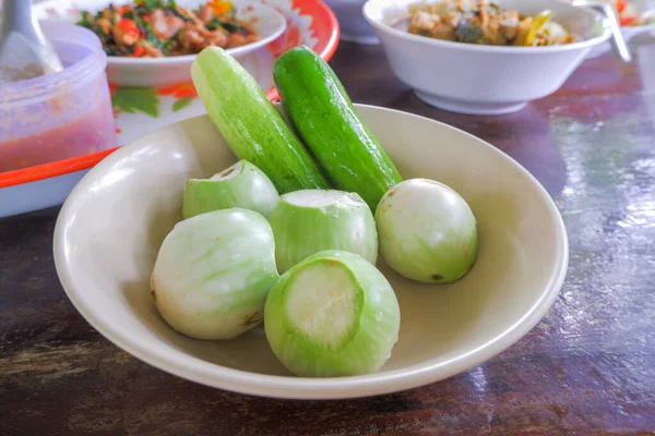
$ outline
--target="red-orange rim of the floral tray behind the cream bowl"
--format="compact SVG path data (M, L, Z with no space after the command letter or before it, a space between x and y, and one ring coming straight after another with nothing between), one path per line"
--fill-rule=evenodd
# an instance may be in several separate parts
M341 28L334 12L332 12L332 10L323 2L323 0L302 0L302 2L296 0L294 1L294 10L299 11L301 15L311 14L314 17L321 16L321 19L324 20L323 22L314 19L314 23L320 26L319 28L324 26L326 32L329 32L329 37L325 39L324 46L319 55L325 61L332 59L341 39ZM313 31L315 35L315 32L318 31L315 28L313 28ZM272 86L266 92L266 97L269 97L270 100L279 98L279 94L277 93L275 86ZM71 172L87 170L102 161L106 156L118 150L120 147L121 145L88 155L56 160L53 162L21 168L13 171L0 172L0 190L37 182L39 180L66 175Z

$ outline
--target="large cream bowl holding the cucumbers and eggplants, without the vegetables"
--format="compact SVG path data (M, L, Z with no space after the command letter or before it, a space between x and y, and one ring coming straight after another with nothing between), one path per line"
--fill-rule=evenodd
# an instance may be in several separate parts
M188 178L235 157L206 117L148 134L108 156L75 186L55 230L55 262L69 298L105 337L136 358L204 385L267 397L373 396L466 371L516 342L544 316L564 279L567 232L548 193L489 144L439 122L358 106L405 178L444 182L468 201L479 255L461 281L425 286L381 265L402 312L400 339L377 374L297 378L263 327L231 341L175 332L157 313L150 275L181 219Z

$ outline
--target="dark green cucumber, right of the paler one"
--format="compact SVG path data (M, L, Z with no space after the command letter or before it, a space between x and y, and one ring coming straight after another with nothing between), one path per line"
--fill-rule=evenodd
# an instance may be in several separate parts
M382 196L403 178L334 71L300 46L277 58L273 77L296 131L334 186L358 193L376 210Z

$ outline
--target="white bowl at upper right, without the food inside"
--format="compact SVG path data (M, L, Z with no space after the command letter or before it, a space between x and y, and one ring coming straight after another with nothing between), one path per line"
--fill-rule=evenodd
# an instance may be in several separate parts
M606 19L556 0L499 0L524 14L545 9L583 40L550 47L498 47L412 35L391 23L418 0L369 0L364 15L397 77L427 104L469 114L501 114L556 92L593 47L610 37Z

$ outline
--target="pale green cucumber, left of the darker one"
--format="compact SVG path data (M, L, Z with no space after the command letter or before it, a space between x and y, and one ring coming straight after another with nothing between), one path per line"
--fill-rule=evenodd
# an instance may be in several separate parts
M233 153L259 167L279 194L331 187L259 84L225 50L204 49L193 61L191 77Z

